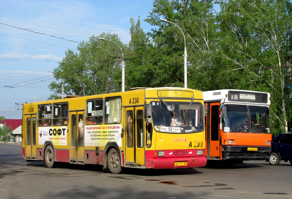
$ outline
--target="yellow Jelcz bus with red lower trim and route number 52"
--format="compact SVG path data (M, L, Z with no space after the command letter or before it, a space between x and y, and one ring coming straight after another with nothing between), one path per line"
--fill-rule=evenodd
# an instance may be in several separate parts
M22 155L111 173L205 166L203 104L201 91L171 87L26 103Z

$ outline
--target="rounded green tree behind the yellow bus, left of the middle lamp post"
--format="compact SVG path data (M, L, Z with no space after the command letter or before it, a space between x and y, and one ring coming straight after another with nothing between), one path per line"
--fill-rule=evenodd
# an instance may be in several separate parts
M116 34L102 33L79 44L79 53L68 49L58 68L54 69L63 78L64 94L85 96L120 91L121 51L113 42L99 37L125 48ZM60 77L55 74L55 78ZM62 92L62 82L53 81L49 88L54 92L50 99L56 99Z

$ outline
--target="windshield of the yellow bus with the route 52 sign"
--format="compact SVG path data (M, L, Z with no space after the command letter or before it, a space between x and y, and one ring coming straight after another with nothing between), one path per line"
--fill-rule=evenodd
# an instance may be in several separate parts
M152 124L156 131L192 133L204 130L203 105L197 102L152 102Z

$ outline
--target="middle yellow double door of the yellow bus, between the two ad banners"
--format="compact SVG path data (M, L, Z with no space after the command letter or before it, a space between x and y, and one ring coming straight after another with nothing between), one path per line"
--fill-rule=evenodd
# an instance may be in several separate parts
M70 161L84 162L83 111L70 112Z

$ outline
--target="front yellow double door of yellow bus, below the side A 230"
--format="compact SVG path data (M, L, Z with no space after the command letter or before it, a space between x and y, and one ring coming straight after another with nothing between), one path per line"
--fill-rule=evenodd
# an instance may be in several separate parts
M145 165L143 106L126 108L125 162L131 166Z

